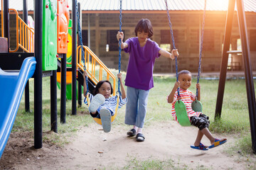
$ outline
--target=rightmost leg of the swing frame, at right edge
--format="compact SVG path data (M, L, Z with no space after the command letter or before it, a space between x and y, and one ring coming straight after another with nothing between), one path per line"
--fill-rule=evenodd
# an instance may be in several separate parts
M255 89L252 77L252 67L250 62L250 47L247 36L247 26L245 21L245 9L242 0L237 0L238 7L238 25L240 30L240 38L242 45L242 59L245 67L245 84L247 91L247 103L250 115L250 128L252 135L252 149L256 154L256 102L255 102Z

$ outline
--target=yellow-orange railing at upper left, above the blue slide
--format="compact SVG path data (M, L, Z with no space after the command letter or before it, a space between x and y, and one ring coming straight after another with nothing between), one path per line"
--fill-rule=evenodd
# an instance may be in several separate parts
M26 52L34 52L33 28L28 28L15 9L9 8L9 11L16 13L16 49L10 50L10 52L16 52L18 47L21 47Z

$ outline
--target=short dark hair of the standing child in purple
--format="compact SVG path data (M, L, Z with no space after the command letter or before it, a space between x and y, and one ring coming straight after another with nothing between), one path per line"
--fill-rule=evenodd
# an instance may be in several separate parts
M134 33L137 36L138 32L142 32L144 31L144 33L149 33L149 38L151 38L151 36L153 35L153 28L151 25L151 22L149 21L149 19L147 18L142 18L138 23L137 26L134 29Z

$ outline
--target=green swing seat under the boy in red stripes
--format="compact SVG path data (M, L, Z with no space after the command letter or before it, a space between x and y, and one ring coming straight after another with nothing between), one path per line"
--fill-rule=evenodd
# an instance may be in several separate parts
M193 111L202 112L202 103L200 101L193 101L191 104ZM178 123L182 126L191 126L188 118L188 113L186 112L186 105L183 101L178 100L175 103L175 111L178 119Z

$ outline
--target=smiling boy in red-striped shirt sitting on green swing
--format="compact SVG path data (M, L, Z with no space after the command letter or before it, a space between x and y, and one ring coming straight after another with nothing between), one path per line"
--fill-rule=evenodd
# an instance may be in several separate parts
M176 111L175 111L174 105L176 101L178 101L177 89L179 87L180 88L179 95L180 95L181 101L183 101L186 105L186 111L188 114L188 118L191 122L191 125L194 125L197 128L199 128L196 141L194 142L194 145L191 145L191 148L208 150L209 148L222 145L223 143L227 142L227 139L226 138L218 139L213 137L213 135L208 130L208 127L210 125L210 121L208 120L209 117L207 115L204 115L201 112L195 112L192 110L191 103L196 99L200 101L201 86L199 83L196 84L196 89L198 89L198 96L196 98L196 95L188 90L188 88L191 86L191 81L192 81L191 72L189 72L188 70L182 70L181 72L178 72L178 81L176 81L176 84L174 84L174 88L172 89L171 94L167 96L168 103L172 104L171 115L174 117L174 120L178 121L176 117ZM203 135L206 135L208 140L210 140L209 147L201 143Z

